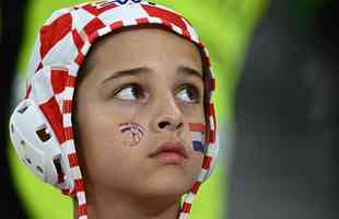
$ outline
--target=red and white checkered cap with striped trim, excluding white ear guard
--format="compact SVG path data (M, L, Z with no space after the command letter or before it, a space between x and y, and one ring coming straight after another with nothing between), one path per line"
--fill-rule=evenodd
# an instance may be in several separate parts
M203 163L197 181L186 195L180 219L188 217L194 197L200 184L210 175L215 162L218 145L212 99L214 78L208 51L186 19L173 10L138 0L101 1L58 10L38 34L30 65L26 99L38 105L55 132L63 158L67 158L67 170L63 172L66 178L72 183L55 186L61 187L65 194L78 199L78 215L81 219L87 218L87 208L71 122L78 71L95 39L124 26L141 24L162 25L170 32L194 42L201 50L203 67L210 74L209 80L204 81L209 87L209 102L206 103L206 117L209 120L206 123L208 126Z

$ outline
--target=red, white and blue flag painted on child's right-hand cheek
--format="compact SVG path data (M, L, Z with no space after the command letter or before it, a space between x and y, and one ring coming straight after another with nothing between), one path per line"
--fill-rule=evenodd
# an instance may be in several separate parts
M204 131L206 126L204 124L200 123L189 123L188 124L189 130L192 134L192 147L195 151L204 153L206 147L204 147Z

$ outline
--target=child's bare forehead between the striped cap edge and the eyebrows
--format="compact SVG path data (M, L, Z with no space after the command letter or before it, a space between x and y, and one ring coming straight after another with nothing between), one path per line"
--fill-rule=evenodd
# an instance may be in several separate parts
M110 65L118 61L136 62L136 59L145 60L149 54L161 58L160 56L166 55L164 50L173 55L184 53L192 62L201 65L197 45L159 25L126 27L118 33L104 36L92 45L83 65L90 69L95 65Z

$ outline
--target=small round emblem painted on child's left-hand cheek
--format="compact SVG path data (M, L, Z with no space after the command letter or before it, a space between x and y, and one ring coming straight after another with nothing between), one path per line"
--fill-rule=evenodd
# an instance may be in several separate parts
M138 123L119 124L121 134L126 137L124 146L137 146L144 136L144 128Z

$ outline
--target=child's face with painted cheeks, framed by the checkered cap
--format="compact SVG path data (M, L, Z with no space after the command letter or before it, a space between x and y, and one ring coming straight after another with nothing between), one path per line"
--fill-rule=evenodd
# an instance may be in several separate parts
M204 124L198 48L164 30L135 28L98 42L87 58L75 120L89 193L179 197L191 188L203 157L189 131ZM154 155L166 141L187 157Z

